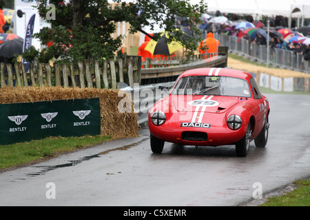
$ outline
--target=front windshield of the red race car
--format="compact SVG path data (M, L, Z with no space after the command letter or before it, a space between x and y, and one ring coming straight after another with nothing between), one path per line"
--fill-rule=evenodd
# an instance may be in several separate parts
M249 83L228 76L186 76L180 78L172 95L212 95L251 97Z

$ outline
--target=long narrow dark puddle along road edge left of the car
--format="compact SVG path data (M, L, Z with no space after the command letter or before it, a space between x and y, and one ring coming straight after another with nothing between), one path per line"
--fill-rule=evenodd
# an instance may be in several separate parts
M27 173L26 175L28 175L30 177L35 177L38 175L44 175L45 173L48 173L48 171L55 170L57 168L63 168L63 167L68 167L68 166L76 166L77 164L81 164L81 162L90 160L92 158L101 157L101 155L105 155L107 153L110 153L111 151L126 151L127 149L132 148L133 146L137 146L138 144L140 144L141 142L144 142L147 139L148 138L144 138L143 140L141 140L139 142L136 142L133 144L128 144L125 146L120 146L118 148L109 149L109 150L103 151L101 153L96 153L95 155L85 156L81 159L70 160L68 163L65 163L65 164L59 164L59 165L55 165L55 166L34 166L36 168L43 168L43 169L38 171L38 172Z

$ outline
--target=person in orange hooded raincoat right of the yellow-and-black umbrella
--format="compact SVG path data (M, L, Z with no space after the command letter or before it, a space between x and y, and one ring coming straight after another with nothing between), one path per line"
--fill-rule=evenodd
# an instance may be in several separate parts
M199 44L199 52L200 54L211 54L211 56L217 56L218 55L218 47L220 46L220 41L214 39L214 33L209 30L207 32L207 38L200 42ZM204 56L204 58L207 58L207 56Z

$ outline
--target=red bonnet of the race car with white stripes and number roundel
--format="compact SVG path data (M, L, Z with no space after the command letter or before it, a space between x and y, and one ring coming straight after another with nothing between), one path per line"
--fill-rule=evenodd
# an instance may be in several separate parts
M172 96L177 111L224 112L241 100L235 96Z

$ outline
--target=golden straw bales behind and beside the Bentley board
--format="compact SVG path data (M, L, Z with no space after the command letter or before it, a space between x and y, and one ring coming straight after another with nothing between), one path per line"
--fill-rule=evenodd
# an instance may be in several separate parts
M122 97L118 97L118 91L117 89L81 89L78 87L2 87L0 88L0 104L99 97L101 135L136 137L139 127L138 115L118 111L118 102L130 98L123 93ZM127 102L132 103L131 98ZM134 109L133 104L132 109Z

